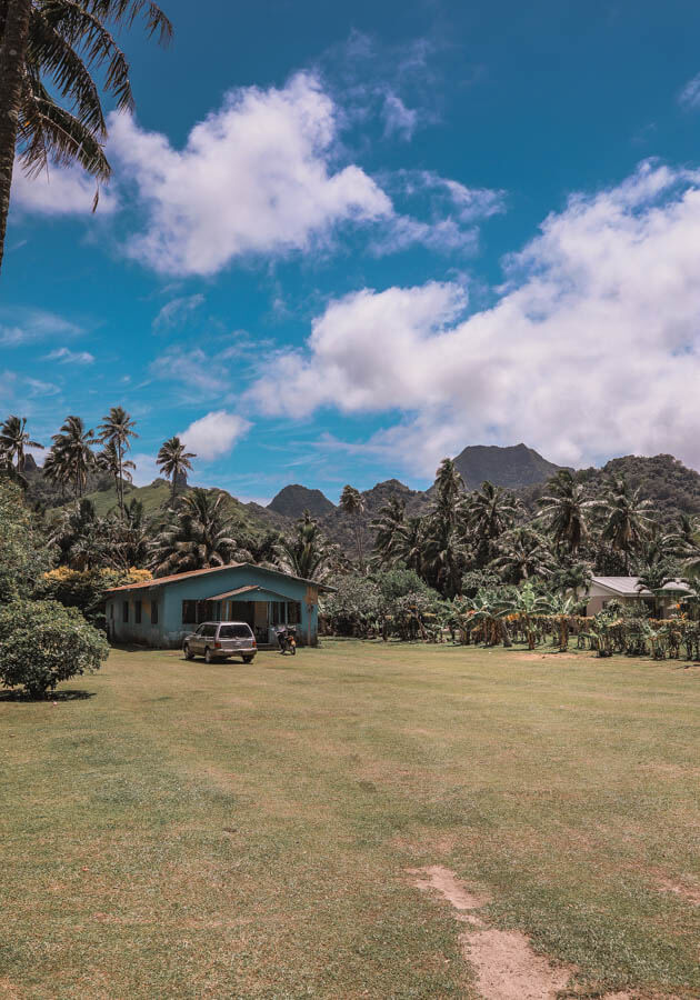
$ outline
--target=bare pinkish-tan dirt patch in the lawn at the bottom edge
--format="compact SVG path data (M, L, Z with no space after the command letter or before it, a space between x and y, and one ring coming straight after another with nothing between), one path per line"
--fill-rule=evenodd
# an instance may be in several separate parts
M490 901L487 893L472 891L441 864L410 868L408 874L421 891L439 893L456 911L456 919L468 924L459 941L476 972L482 1000L557 1000L576 970L536 954L520 931L489 927L484 917L474 912ZM632 994L608 993L603 1000L632 1000Z

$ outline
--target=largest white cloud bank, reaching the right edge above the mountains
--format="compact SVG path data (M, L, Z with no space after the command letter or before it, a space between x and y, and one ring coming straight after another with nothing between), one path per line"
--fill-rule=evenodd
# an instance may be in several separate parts
M526 441L552 460L672 451L700 466L700 172L642 163L573 196L469 317L454 283L331 302L306 349L251 389L266 413L403 413L369 447L430 474L468 443ZM261 369L262 371L262 369Z

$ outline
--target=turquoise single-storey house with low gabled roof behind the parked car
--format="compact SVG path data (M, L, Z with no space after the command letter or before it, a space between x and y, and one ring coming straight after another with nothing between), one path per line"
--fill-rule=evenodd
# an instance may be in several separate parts
M157 577L107 591L107 632L116 642L168 649L202 621L247 621L261 646L276 641L278 624L296 626L300 642L314 646L319 592L330 590L248 562Z

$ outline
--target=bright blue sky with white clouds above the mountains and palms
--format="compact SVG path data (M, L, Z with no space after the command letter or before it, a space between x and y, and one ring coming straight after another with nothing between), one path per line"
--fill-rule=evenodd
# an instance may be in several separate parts
M137 419L194 480L336 499L521 440L700 468L700 10L163 0L90 214L17 177L3 412Z

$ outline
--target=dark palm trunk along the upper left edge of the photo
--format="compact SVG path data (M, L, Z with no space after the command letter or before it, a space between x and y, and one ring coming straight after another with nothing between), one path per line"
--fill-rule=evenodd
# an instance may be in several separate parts
M4 34L0 46L0 268L10 210L30 13L31 0L8 0Z

